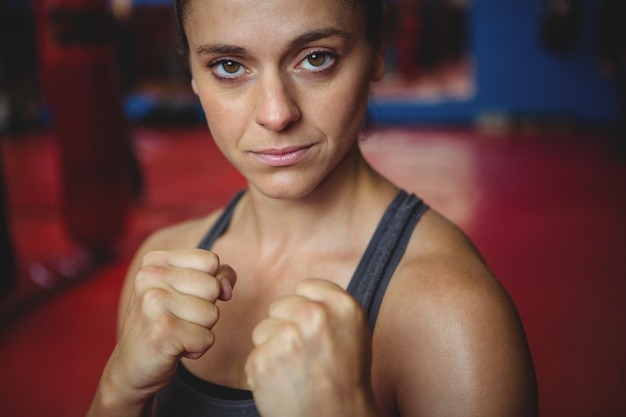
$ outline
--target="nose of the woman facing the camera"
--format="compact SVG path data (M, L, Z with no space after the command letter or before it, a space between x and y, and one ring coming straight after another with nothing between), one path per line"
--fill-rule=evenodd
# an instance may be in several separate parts
M256 123L279 132L300 120L300 109L293 92L280 74L267 74L257 88Z

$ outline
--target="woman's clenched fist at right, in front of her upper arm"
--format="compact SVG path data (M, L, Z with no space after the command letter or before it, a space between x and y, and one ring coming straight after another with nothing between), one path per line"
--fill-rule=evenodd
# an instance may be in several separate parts
M252 339L245 370L261 415L374 415L365 312L337 285L300 283L270 306Z

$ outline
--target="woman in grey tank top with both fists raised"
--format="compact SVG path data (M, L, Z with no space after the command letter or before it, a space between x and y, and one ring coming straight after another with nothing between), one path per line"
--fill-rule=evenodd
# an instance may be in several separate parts
M139 250L89 415L536 415L506 293L359 151L381 3L177 8L192 88L248 188Z

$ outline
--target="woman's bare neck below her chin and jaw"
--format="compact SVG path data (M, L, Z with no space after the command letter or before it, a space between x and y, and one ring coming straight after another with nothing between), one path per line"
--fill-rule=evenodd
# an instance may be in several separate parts
M259 247L269 251L307 242L333 245L338 235L352 236L363 224L377 224L396 192L356 147L347 161L301 198L271 198L251 187L240 220L246 230L254 230Z

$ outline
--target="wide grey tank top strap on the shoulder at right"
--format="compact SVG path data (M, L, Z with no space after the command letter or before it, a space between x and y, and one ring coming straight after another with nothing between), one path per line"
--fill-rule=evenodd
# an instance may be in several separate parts
M365 308L372 332L389 281L413 229L427 209L414 194L400 190L378 224L348 285L348 292Z

